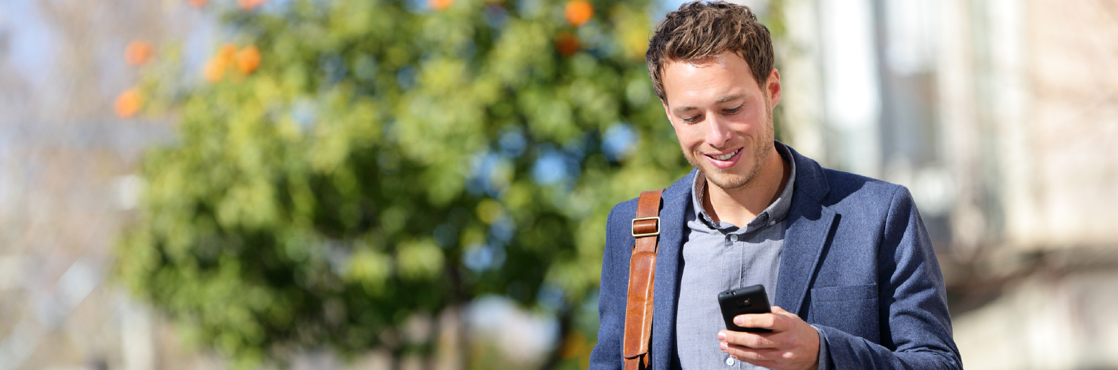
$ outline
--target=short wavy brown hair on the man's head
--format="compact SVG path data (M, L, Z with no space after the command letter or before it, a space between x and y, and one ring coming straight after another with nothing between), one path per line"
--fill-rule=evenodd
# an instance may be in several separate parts
M773 39L749 8L726 1L692 1L667 13L644 55L656 96L667 102L661 77L669 61L699 61L727 50L746 60L757 85L765 89L773 70Z

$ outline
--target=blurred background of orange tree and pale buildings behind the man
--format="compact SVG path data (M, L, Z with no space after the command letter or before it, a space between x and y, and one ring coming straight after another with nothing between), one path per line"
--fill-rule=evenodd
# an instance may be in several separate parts
M968 369L1118 369L1118 2L754 0ZM579 369L678 0L0 0L0 370ZM636 153L641 153L636 155Z

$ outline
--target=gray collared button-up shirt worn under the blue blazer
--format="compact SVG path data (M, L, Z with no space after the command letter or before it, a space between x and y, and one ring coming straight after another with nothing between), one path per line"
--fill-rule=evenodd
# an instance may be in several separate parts
M777 152L789 163L788 183L780 197L743 228L714 221L703 208L707 178L694 178L691 207L686 212L688 239L683 244L683 272L676 303L675 343L683 369L760 369L737 361L719 350L718 332L726 329L718 306L718 293L756 284L765 286L769 304L776 296L785 219L792 207L796 163L780 142ZM816 329L818 330L818 329ZM826 347L819 338L819 368Z

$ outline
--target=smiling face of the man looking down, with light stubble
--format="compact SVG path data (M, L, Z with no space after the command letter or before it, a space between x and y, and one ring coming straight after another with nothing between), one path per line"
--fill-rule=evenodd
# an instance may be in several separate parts
M762 91L735 53L664 66L664 111L683 155L722 189L751 182L774 151L773 106L780 101L776 69Z

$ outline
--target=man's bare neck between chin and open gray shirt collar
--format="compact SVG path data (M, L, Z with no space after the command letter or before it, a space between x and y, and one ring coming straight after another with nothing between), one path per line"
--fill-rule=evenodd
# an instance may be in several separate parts
M722 189L704 179L703 208L711 219L745 227L780 197L792 167L784 161L776 146L770 150L757 177L740 188Z

